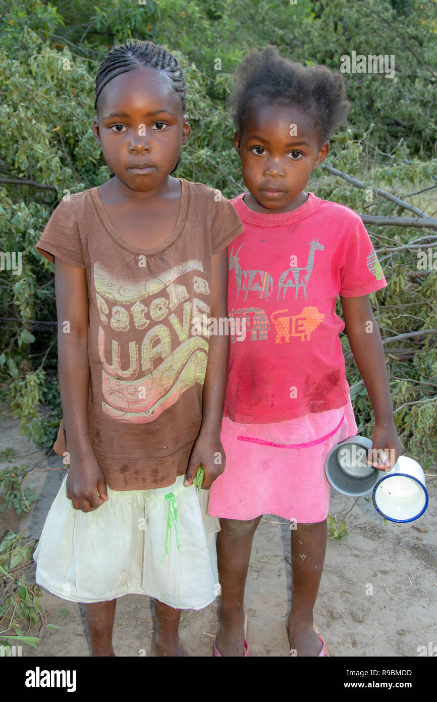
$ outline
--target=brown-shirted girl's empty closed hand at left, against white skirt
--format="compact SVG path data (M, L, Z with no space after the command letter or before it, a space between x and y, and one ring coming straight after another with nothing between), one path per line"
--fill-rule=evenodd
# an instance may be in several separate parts
M93 512L109 500L102 468L94 453L72 453L67 477L67 498L75 510Z

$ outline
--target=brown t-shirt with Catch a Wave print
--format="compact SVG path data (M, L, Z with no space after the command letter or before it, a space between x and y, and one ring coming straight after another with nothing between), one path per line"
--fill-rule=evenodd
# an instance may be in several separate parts
M62 200L36 244L52 263L86 269L88 424L113 490L164 487L187 470L208 359L208 336L192 320L210 315L213 254L243 232L219 191L179 180L175 230L156 249L123 239L97 187ZM67 444L62 421L55 452Z

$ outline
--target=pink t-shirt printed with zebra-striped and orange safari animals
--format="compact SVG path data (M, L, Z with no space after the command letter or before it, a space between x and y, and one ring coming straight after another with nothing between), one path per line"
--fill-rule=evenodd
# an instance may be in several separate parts
M231 335L224 416L262 424L346 404L337 296L386 286L360 216L309 192L292 212L231 200L245 227L229 253ZM243 318L246 318L244 338Z

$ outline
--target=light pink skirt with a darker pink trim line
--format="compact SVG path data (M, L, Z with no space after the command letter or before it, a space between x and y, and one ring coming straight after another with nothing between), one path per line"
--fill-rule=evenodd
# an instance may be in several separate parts
M356 432L350 397L344 407L274 424L241 424L224 417L226 468L210 488L208 514L323 522L330 494L325 458Z

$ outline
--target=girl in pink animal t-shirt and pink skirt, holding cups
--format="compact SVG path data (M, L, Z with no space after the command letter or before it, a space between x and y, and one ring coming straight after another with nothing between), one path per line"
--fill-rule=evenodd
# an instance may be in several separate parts
M401 453L369 300L386 280L358 214L304 190L346 119L342 76L290 62L267 46L241 62L231 106L249 192L231 201L245 230L228 247L228 314L246 319L246 337L231 338L222 424L227 463L208 506L221 524L214 654L248 656L250 549L262 515L276 514L292 522L290 653L323 656L313 608L327 539L325 458L357 433L339 339L344 326L375 414L372 448L390 456L372 465L389 470ZM335 314L338 295L344 323Z

